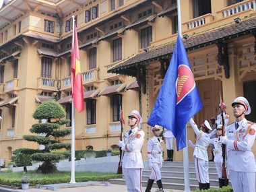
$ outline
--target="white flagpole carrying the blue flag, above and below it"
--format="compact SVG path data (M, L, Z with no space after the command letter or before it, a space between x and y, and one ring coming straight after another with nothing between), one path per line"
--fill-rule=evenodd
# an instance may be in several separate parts
M181 30L181 2L177 0L177 9L178 9L178 35L182 38ZM184 192L190 192L189 187L189 151L187 148L187 125L186 125L186 147L183 148L183 166L184 166Z

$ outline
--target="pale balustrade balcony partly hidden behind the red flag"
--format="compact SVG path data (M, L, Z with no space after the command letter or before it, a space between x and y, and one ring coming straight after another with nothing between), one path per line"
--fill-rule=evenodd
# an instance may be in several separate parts
M98 80L98 71L99 71L99 68L90 69L89 71L82 73L83 85L96 82ZM71 87L72 87L71 77L66 77L61 80L61 90L71 89Z

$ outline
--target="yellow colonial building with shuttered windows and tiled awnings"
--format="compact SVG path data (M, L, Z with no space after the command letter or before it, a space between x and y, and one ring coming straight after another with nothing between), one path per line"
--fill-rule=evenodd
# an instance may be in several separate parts
M18 148L38 148L22 135L46 100L63 105L71 119L71 37L75 16L85 110L75 112L75 149L115 148L120 110L148 117L177 39L177 1L12 0L0 5L0 158ZM195 122L218 115L220 93L228 106L245 96L256 121L256 1L181 0L183 41L203 108ZM72 122L71 122L72 123ZM66 127L71 129L71 123ZM66 128L63 127L63 128ZM127 121L124 125L125 131ZM188 137L195 135L188 128ZM63 140L71 141L71 137ZM174 145L176 148L176 146ZM192 160L192 150L189 158ZM174 160L183 160L174 152Z

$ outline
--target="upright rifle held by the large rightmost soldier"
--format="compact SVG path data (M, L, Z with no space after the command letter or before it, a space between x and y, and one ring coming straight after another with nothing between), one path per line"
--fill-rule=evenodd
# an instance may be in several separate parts
M224 103L222 102L222 97L220 95L220 111L222 114L222 136L225 136L225 121L224 121L224 116L223 112L226 113L226 109L224 106ZM222 144L222 178L219 180L220 182L220 187L227 186L228 185L228 178L226 176L226 145Z

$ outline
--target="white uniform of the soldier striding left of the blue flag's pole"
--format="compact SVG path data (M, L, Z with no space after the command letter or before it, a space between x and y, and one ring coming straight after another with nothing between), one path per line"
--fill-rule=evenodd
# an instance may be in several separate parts
M148 159L152 159L152 172L150 179L158 181L161 179L160 168L162 167L162 139L152 137L148 139Z

